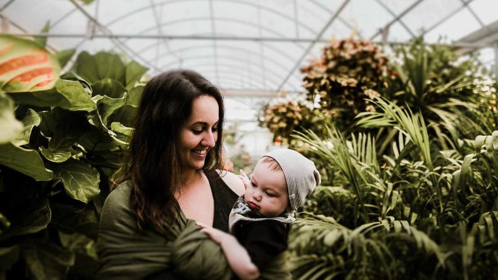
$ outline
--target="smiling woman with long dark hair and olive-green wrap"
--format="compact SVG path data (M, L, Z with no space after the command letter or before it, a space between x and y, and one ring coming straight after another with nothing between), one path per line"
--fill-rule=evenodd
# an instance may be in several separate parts
M241 179L223 172L223 96L204 77L177 70L142 93L119 186L102 210L99 278L166 275L173 225L181 217L228 232Z

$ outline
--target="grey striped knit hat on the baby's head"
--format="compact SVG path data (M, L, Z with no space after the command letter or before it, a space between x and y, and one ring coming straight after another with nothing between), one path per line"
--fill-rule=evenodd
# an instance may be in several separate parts
M321 177L316 170L315 163L299 152L291 149L277 149L262 157L264 156L275 159L282 167L292 210L296 210L303 204L306 196L320 185Z

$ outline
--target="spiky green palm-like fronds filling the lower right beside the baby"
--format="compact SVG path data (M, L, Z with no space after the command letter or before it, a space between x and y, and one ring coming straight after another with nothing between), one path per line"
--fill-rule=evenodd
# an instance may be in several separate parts
M365 134L296 135L337 174L293 227L296 279L497 278L498 131L443 150L420 115L372 102L359 124L394 128L392 155Z

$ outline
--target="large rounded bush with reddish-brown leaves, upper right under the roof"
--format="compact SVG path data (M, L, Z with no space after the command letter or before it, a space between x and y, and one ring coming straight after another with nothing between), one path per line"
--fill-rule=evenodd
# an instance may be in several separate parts
M333 40L322 57L301 68L307 99L330 111L340 128L348 128L361 112L374 112L366 99L380 96L389 72L388 59L373 42Z

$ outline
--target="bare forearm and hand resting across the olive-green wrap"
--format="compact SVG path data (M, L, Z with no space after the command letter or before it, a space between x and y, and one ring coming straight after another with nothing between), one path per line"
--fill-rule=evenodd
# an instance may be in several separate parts
M259 270L252 263L248 251L233 235L208 227L203 223L198 222L197 225L203 228L201 232L206 233L214 242L220 244L230 268L240 279L252 280L259 277Z

